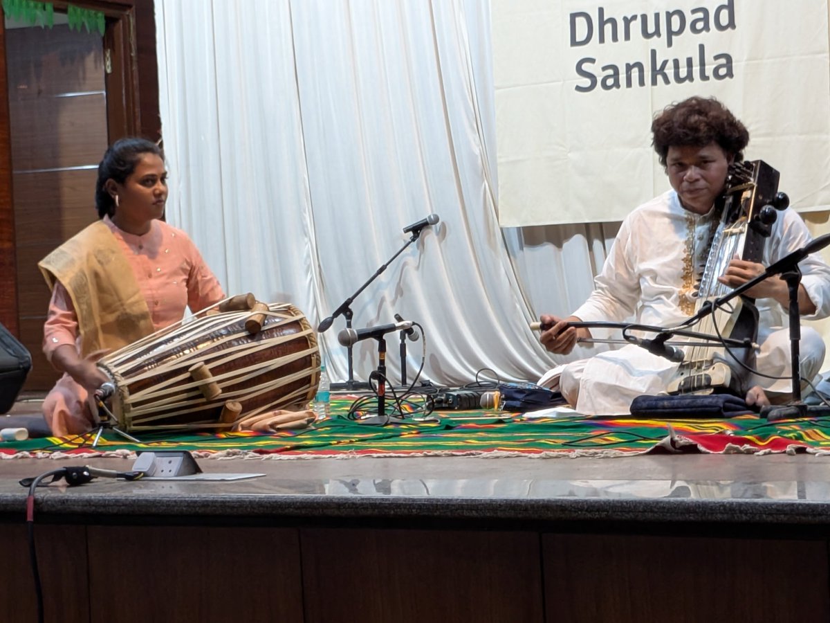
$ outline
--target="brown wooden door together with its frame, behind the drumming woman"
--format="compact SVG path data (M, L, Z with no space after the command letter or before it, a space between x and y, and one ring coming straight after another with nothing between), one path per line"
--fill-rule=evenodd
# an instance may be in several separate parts
M0 28L0 323L32 354L34 391L57 378L41 351L49 292L37 261L97 218L106 146L161 134L153 0L73 2L104 13L103 36L71 31L67 3L52 3L52 28Z

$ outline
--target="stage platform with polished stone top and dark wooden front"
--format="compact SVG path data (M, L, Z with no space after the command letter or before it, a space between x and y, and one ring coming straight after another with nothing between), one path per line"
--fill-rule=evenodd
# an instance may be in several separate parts
M34 620L0 461L0 620ZM830 458L201 459L39 490L47 621L827 621Z

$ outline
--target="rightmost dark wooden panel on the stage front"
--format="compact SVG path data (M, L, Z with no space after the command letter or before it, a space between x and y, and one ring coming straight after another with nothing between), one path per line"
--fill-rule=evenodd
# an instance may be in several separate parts
M828 621L824 540L544 535L547 623Z

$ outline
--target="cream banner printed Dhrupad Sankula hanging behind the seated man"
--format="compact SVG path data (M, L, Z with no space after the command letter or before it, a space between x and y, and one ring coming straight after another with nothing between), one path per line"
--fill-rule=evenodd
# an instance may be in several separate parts
M745 159L830 208L828 0L492 0L502 227L621 220L669 188L655 113L715 96Z

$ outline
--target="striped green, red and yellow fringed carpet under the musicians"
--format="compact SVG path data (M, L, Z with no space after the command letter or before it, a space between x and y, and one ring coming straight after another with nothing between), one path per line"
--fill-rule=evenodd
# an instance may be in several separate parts
M631 417L525 418L492 412L441 412L437 421L411 415L389 424L346 419L351 400L333 400L332 417L310 429L275 434L133 432L136 444L113 431L0 443L0 459L134 456L142 450L189 450L201 458L346 459L352 457L476 456L500 458L615 457L647 453L830 454L830 418L774 424L751 415L732 419L644 420Z

